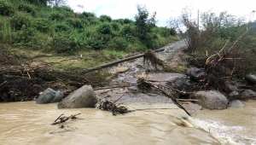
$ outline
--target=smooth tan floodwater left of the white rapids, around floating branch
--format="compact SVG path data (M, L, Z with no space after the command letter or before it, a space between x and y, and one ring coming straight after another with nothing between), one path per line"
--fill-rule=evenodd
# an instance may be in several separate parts
M137 104L139 107L148 105ZM167 107L170 104L156 104ZM173 104L171 104L173 106ZM113 116L93 108L57 109L56 104L38 105L35 102L0 104L0 144L218 144L207 131L175 125L173 113L181 109L136 111ZM57 131L49 125L61 113L81 113L79 120L68 125L74 131Z

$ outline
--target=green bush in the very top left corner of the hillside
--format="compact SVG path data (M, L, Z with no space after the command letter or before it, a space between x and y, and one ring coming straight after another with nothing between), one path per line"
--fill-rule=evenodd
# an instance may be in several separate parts
M6 0L0 0L0 14L1 15L11 15L15 13L15 7Z

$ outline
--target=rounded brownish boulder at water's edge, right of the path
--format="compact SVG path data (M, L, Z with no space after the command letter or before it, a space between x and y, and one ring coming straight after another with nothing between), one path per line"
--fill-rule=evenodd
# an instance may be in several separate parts
M207 109L224 109L228 107L228 101L218 90L198 91L193 96L198 105Z

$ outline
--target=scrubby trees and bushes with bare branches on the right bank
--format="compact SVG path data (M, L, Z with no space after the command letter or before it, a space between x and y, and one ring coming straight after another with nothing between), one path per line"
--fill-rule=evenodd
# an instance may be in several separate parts
M191 19L188 9L183 10L180 18L170 19L170 25L188 44L189 66L205 68L207 77L201 80L205 89L208 86L221 89L224 79L254 73L256 22L244 20L227 12L217 15L209 11L201 14L199 24Z

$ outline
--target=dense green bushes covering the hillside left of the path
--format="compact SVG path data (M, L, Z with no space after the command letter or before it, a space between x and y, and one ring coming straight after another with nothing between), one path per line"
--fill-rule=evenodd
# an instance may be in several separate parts
M0 41L15 47L76 54L102 49L136 52L177 40L176 31L156 26L155 14L149 17L143 6L137 6L135 20L113 20L108 15L74 13L58 2L0 0Z

